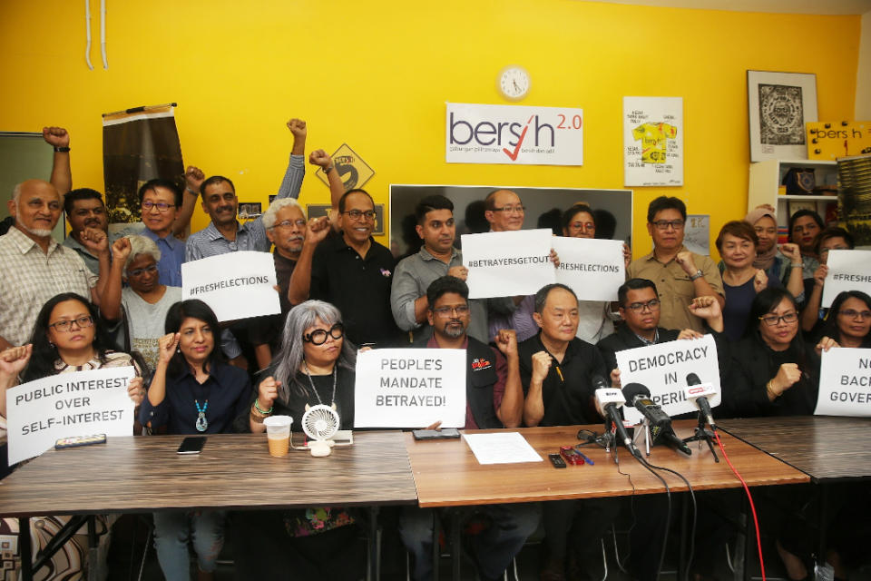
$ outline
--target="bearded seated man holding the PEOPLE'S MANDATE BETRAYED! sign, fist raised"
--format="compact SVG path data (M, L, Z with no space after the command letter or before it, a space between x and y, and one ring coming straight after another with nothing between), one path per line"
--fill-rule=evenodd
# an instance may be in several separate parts
M469 288L452 276L436 279L426 289L426 319L432 337L418 341L428 349L465 349L466 409L465 428L516 428L524 409L517 360L517 340L513 330L503 330L495 338L498 350L466 334L469 327ZM464 517L481 515L490 526L471 537L470 544L481 579L501 579L526 538L538 527L539 509L534 503L485 505L475 507ZM399 534L406 549L415 557L413 578L433 576L432 508L404 507Z

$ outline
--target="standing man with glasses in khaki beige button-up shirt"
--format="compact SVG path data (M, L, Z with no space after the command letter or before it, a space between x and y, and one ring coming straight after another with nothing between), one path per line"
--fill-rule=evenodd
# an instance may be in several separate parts
M653 251L632 261L630 279L648 279L656 284L661 300L660 325L666 329L702 330L701 320L688 307L696 297L713 296L726 304L723 281L709 256L683 246L687 207L678 198L660 196L648 206L647 231Z

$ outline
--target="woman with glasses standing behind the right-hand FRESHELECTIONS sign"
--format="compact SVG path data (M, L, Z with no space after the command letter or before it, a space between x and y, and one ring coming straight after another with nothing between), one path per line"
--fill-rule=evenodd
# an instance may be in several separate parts
M596 237L596 219L590 206L578 202L563 212L563 236L590 239ZM629 268L631 258L629 246L623 244L625 268ZM593 345L611 335L614 332L613 321L620 320L620 315L612 313L611 303L607 300L579 300L578 316L578 331L575 336Z

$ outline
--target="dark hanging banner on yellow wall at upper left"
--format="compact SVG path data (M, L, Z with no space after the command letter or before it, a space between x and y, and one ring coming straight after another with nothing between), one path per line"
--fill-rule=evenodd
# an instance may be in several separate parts
M154 178L184 183L174 104L103 114L103 179L110 223L140 221L143 183Z

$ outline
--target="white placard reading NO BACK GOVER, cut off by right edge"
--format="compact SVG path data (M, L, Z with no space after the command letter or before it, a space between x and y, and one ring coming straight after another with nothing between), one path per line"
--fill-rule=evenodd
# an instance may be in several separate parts
M871 416L871 349L823 351L817 416Z

